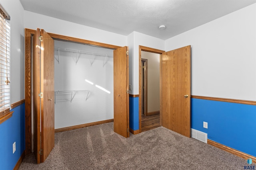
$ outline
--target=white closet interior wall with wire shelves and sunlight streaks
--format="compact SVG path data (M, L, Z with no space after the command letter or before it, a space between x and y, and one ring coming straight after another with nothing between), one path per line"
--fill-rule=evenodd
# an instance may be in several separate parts
M54 40L54 58L55 129L113 119L113 49Z

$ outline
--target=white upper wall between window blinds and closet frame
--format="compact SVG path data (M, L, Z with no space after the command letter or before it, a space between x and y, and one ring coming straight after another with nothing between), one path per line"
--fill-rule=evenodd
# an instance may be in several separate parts
M24 9L19 0L0 0L10 15L11 25L11 104L24 99Z

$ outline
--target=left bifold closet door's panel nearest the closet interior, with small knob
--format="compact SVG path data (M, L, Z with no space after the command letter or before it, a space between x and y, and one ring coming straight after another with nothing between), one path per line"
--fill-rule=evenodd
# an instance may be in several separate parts
M44 29L41 30L41 99L42 150L44 162L54 147L54 40Z

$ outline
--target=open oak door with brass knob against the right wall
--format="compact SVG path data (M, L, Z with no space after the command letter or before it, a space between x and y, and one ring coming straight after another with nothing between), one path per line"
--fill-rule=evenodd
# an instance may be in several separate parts
M190 137L190 45L162 53L162 126Z

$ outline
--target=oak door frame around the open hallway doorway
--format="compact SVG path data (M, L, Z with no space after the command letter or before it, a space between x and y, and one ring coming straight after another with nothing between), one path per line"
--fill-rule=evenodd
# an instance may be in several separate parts
M139 45L139 63L141 63L141 51L160 54L160 125L162 126L162 53L165 51ZM139 106L141 106L141 64L139 64ZM141 107L139 107L139 133L141 133Z

